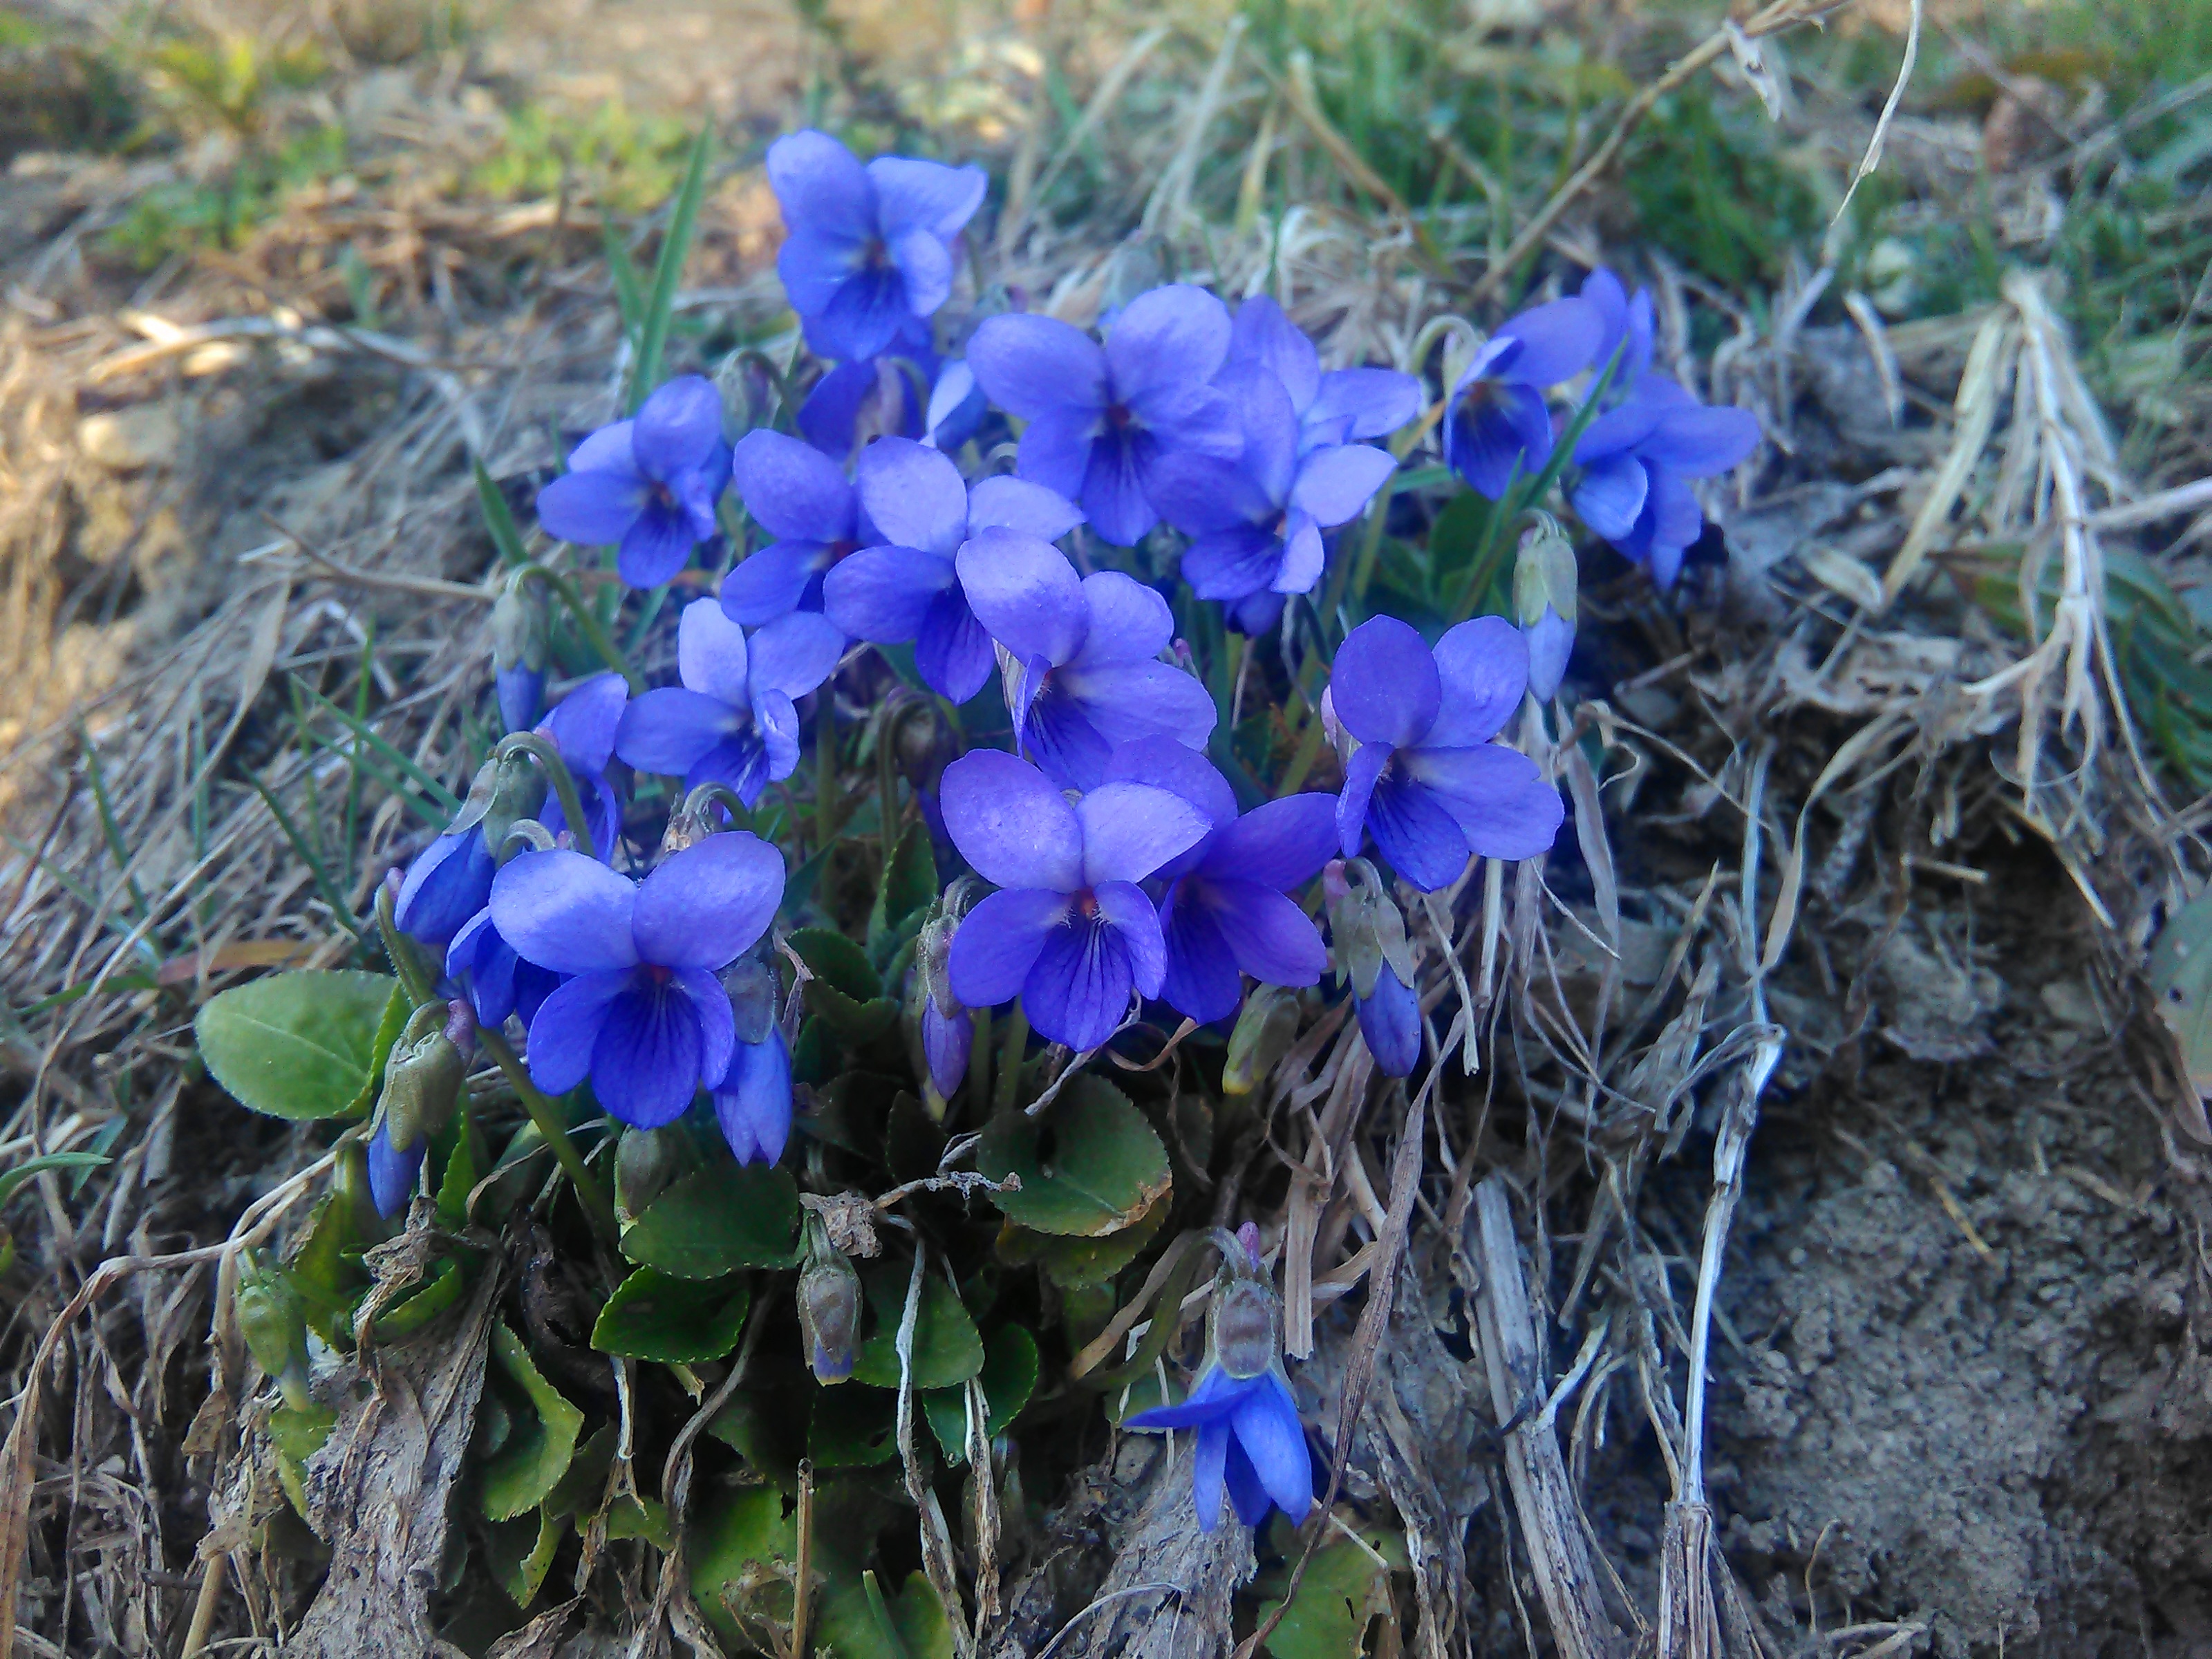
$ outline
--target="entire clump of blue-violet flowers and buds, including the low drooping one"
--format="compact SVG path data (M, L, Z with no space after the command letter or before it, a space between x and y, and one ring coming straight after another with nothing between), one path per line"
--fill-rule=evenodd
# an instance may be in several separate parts
M502 597L495 686L513 734L394 894L396 925L436 947L438 995L458 1002L449 1024L425 1004L409 1026L378 1119L378 1208L418 1179L425 1126L449 1110L476 1026L500 1044L520 1024L546 1095L588 1084L641 1133L697 1106L739 1161L783 1157L794 1040L812 1053L787 1024L801 1000L776 980L785 854L712 814L743 825L761 807L792 823L807 785L770 790L794 779L812 730L821 783L794 902L812 894L841 834L827 801L838 719L887 675L907 688L869 726L885 887L905 810L891 714L929 708L953 732L1004 732L914 776L911 807L964 865L907 925L894 967L931 1113L958 1095L982 1011L1013 1004L1018 1082L1024 1031L1082 1064L1146 1018L1225 1029L1248 982L1265 987L1250 1009L1274 1033L1270 1053L1296 1026L1298 993L1303 1009L1349 995L1376 1066L1409 1075L1427 1033L1422 973L1391 880L1458 889L1473 860L1542 856L1564 818L1537 761L1500 741L1515 719L1546 730L1540 703L1573 641L1573 546L1537 511L1540 491L1564 480L1582 522L1666 586L1701 531L1690 482L1736 465L1756 422L1657 374L1648 294L1595 272L1502 325L1429 411L1453 471L1500 513L1535 513L1513 586L1520 626L1480 615L1425 637L1367 615L1347 628L1367 608L1365 577L1338 611L1332 533L1387 500L1427 434L1416 376L1325 372L1276 301L1232 312L1190 283L1137 294L1095 332L1000 312L947 356L936 316L984 175L907 157L863 166L823 133L776 142L768 175L787 228L785 294L823 372L794 431L743 434L726 429L712 380L677 376L584 438L540 493L540 526L613 549L626 584L664 586L701 557L719 586L677 615L675 684L635 692L626 670L564 690L544 591L515 577ZM1579 405L1555 409L1564 385ZM1006 453L1011 471L993 471ZM1369 522L1380 535L1380 513ZM1177 555L1181 586L1164 577ZM1318 615L1325 577L1332 615ZM1285 622L1301 604L1314 626ZM1285 750L1254 741L1252 721L1230 730L1221 661L1212 684L1194 670L1225 648L1223 630L1245 635L1230 661L1250 670L1279 628L1290 714L1318 723L1292 770L1336 770L1267 799L1252 774ZM1338 630L1332 661L1307 653ZM863 648L880 664L860 664ZM1272 672L1267 661L1261 697ZM993 679L1004 726L993 703L978 708ZM626 803L644 816L653 799L672 810L648 856ZM872 949L876 936L872 922ZM1340 989L1321 991L1332 971ZM1241 1024L1230 1044L1237 1088L1252 1086L1256 1042ZM1197 1385L1130 1427L1199 1431L1201 1526L1223 1491L1248 1524L1270 1509L1303 1520L1312 1467L1256 1234L1221 1248ZM858 1290L821 1239L810 1261L810 1365L836 1380L854 1365Z

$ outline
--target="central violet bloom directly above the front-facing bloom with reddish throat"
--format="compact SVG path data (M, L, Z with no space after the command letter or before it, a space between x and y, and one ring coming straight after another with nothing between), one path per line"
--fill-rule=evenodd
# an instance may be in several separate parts
M1214 699L1159 661L1175 639L1168 602L1119 571L1075 575L1031 535L987 529L956 560L960 591L1000 644L1000 679L1020 750L1064 790L1106 776L1106 757L1139 737L1206 748Z

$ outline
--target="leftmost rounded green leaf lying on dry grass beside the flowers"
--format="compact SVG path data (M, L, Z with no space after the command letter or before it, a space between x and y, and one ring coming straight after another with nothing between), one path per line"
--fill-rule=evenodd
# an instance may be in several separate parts
M358 1110L394 980L352 969L272 973L208 998L199 1057L241 1106L310 1121Z

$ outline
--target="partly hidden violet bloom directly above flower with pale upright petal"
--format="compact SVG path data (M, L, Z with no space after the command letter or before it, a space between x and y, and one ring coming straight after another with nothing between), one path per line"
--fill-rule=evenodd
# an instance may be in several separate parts
M880 540L845 473L814 445L765 429L739 440L730 469L745 511L776 540L721 580L721 608L748 628L821 611L823 575Z

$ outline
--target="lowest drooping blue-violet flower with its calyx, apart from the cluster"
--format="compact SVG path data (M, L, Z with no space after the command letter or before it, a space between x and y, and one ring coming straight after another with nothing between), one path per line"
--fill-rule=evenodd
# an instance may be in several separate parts
M1314 1460L1283 1376L1281 1307L1261 1279L1250 1225L1234 1245L1234 1256L1223 1248L1223 1272L1206 1312L1197 1387L1181 1405L1157 1405L1121 1422L1124 1429L1199 1431L1190 1502L1203 1533L1221 1524L1223 1486L1245 1526L1263 1524L1270 1509L1298 1524L1314 1509Z

